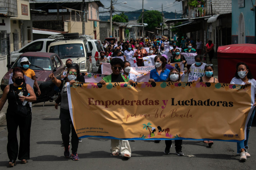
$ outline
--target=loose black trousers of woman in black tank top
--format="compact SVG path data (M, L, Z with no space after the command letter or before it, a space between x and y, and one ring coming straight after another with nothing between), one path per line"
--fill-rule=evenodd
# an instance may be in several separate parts
M6 114L6 123L8 130L8 143L7 153L10 160L29 159L30 157L30 127L31 127L31 114L28 117L16 115L13 112ZM17 129L20 130L20 149L17 139Z

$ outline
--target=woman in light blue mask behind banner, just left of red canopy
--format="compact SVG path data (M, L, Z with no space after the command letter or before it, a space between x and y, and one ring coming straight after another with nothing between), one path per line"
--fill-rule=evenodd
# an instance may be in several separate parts
M209 83L218 83L218 79L213 77L213 64L206 64L204 66L204 76L199 77L196 82L209 82ZM192 82L195 82L193 80ZM208 143L209 147L212 147L213 141L203 141L203 143Z

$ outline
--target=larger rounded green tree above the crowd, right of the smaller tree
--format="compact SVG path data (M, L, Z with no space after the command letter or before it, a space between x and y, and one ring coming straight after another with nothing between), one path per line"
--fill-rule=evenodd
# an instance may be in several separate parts
M146 30L152 30L162 22L162 14L156 10L146 11L144 12L143 22L148 24ZM138 23L142 23L142 14L139 16Z

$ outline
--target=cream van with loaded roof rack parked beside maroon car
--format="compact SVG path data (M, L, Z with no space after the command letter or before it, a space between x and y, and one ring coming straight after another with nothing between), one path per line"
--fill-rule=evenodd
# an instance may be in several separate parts
M67 59L77 63L80 72L92 72L92 52L87 39L78 33L66 33L50 43L48 53L56 53L65 65Z

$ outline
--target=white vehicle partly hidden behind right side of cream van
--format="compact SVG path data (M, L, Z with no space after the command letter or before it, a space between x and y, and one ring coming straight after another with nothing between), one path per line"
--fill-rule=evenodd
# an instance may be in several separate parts
M104 48L100 40L88 39L87 41L89 43L90 49L92 50L92 72L97 72L99 67L96 66L96 61L100 56L100 51L104 51Z

